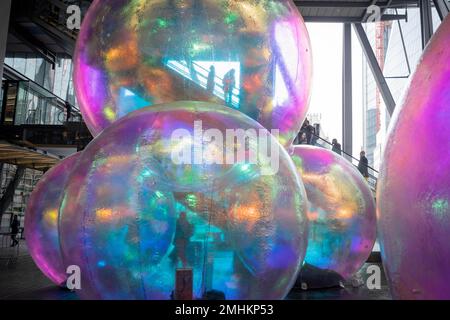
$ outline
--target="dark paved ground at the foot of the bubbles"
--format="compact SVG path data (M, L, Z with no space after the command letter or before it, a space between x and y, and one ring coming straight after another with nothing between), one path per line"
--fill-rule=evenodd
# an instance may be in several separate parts
M76 294L53 285L36 267L28 255L25 243L16 263L6 266L0 261L0 300L77 300ZM365 283L368 275L365 265L360 276ZM366 285L353 287L350 283L345 288L320 290L301 290L294 288L288 295L289 300L378 300L390 299L386 279L382 276L381 290L369 290Z

